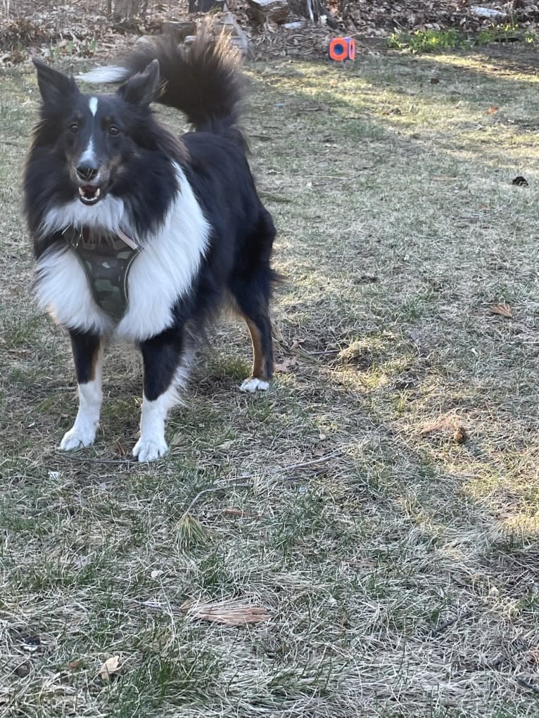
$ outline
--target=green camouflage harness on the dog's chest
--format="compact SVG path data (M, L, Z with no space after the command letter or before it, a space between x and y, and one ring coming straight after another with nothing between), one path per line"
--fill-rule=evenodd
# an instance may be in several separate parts
M137 245L123 233L107 236L68 227L64 237L85 271L93 299L103 312L119 322L129 304L127 279L139 254Z

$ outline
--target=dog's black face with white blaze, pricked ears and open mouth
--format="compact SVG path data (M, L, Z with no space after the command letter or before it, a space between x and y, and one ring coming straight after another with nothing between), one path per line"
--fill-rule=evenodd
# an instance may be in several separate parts
M97 205L114 192L126 163L142 149L137 128L157 93L159 63L154 60L115 95L83 94L73 78L40 60L34 65L43 101L42 140L54 146L73 197Z

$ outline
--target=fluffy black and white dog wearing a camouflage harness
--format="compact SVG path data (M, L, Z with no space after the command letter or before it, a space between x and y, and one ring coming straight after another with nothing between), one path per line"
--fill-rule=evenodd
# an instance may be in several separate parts
M167 414L198 338L223 304L252 338L241 390L264 391L272 378L275 225L239 127L244 76L226 39L208 32L189 48L163 39L82 76L122 83L114 94L83 93L75 78L34 65L42 104L23 182L34 292L69 332L78 382L60 449L94 441L103 345L119 337L138 345L144 367L133 455L154 461L167 451ZM152 102L184 113L192 131L165 129Z

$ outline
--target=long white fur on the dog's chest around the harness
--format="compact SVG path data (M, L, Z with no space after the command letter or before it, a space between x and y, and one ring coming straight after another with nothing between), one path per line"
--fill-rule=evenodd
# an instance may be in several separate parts
M60 325L72 329L93 330L126 340L148 339L170 327L172 307L190 289L208 246L210 227L180 167L176 167L180 192L172 203L165 223L152 236L143 238L128 279L129 307L118 325L114 325L93 299L83 268L73 251L48 251L37 264L37 301ZM100 205L111 200L111 206ZM80 205L80 214L78 214ZM123 205L123 202L121 203ZM123 208L123 207L122 207ZM127 233L129 218L119 213L119 200L105 197L88 216L88 207L74 200L45 218L47 230L65 226L94 225ZM92 221L93 220L93 221ZM132 234L130 235L132 236ZM139 238L134 237L137 241Z

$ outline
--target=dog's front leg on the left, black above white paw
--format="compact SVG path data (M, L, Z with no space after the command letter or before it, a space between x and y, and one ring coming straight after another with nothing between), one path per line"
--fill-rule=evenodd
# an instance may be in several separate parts
M60 449L87 447L96 438L101 412L101 365L103 341L97 334L70 330L78 381L78 412L75 424L65 433Z

